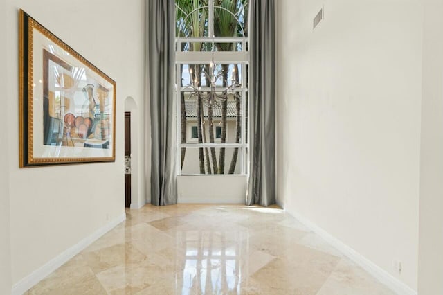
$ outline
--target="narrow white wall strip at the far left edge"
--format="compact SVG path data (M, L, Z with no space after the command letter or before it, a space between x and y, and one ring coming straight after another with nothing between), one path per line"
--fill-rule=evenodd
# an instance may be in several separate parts
M8 96L4 95L6 84L6 1L0 0L0 125L8 126L6 105ZM0 143L6 143L7 134L0 132ZM0 145L0 294L11 292L10 260L10 209L9 209L8 145Z

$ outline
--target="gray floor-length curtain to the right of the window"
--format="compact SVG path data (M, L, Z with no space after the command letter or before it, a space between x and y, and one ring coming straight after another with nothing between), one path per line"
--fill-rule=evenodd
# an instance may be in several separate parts
M252 0L251 167L246 204L275 204L275 15L273 0Z

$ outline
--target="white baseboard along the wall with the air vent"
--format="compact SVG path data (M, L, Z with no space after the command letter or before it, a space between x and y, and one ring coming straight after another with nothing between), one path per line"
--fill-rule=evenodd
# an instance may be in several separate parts
M341 251L343 254L345 254L345 256L350 258L357 265L365 269L365 271L368 271L369 274L377 278L377 280L379 280L381 283L392 289L393 292L401 295L417 295L417 291L411 289L408 285L401 282L401 280L395 278L395 276L389 274L388 271L382 269L374 262L368 260L360 253L356 252L354 249L347 246L347 244L341 242L341 240L338 240L333 235L327 233L327 231L320 228L320 226L314 224L314 222L307 220L307 218L302 216L300 213L289 211L287 212L293 215L293 217L295 217L302 224L305 224L305 226L311 229L311 231L314 231L314 233L320 235L323 240L331 244L338 251Z

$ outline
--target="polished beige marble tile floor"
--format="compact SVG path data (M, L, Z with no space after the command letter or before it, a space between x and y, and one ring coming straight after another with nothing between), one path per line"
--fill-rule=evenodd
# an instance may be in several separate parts
M394 294L277 207L126 213L26 294Z

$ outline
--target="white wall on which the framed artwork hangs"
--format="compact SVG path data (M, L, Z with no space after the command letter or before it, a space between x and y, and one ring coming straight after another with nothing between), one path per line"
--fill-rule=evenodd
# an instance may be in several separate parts
M115 163L19 169L19 8L116 80ZM6 14L8 138L2 142L10 151L12 282L17 284L125 212L124 100L132 96L143 111L144 1L7 0Z

